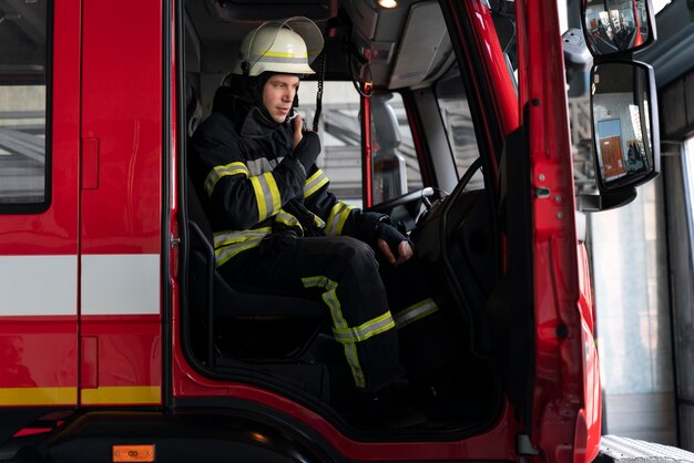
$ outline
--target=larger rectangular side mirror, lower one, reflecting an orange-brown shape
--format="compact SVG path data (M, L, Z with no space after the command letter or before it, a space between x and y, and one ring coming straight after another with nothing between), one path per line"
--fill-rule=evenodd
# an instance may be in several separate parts
M591 119L598 187L633 189L660 172L653 68L602 62L591 71Z

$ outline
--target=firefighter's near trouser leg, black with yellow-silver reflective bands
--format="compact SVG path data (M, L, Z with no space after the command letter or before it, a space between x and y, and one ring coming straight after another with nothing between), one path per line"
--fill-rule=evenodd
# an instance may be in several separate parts
M273 235L220 267L229 282L319 297L355 385L376 392L406 377L374 249L348 237Z

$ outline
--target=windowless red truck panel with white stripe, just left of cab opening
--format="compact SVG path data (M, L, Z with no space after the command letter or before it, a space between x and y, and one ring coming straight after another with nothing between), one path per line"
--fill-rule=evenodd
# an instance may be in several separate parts
M162 4L81 19L80 402L159 404Z

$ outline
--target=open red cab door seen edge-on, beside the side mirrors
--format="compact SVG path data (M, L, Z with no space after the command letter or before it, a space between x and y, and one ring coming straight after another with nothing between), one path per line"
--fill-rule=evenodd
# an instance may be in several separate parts
M519 95L532 259L532 447L548 461L590 461L600 441L600 382L586 263L576 237L572 145L555 2L517 2ZM520 191L517 193L521 193ZM581 259L580 259L581 257ZM583 307L582 307L583 305Z

